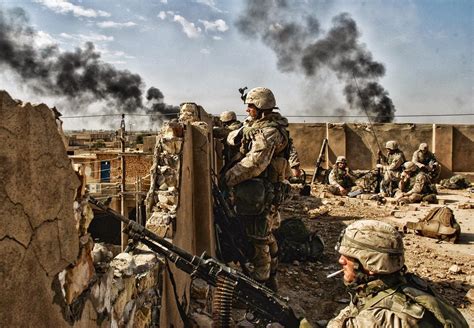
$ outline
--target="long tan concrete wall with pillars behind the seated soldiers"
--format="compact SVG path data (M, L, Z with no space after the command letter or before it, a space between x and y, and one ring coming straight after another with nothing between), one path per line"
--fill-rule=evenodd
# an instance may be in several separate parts
M442 165L442 177L474 175L474 125L293 123L290 134L303 169L311 173L326 137L325 168L339 155L345 155L353 169L373 168L378 148L384 149L388 140L397 140L407 160L420 143L428 143Z

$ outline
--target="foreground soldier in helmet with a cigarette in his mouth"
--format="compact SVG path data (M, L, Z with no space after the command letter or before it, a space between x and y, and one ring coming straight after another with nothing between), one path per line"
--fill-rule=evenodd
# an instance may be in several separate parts
M468 327L455 307L407 272L402 236L390 224L354 222L341 233L336 250L351 302L328 328Z

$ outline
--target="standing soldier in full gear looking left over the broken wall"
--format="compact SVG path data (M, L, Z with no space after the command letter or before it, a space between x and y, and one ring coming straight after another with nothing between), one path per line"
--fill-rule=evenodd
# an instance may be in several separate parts
M252 276L276 290L278 246L272 230L279 226L278 207L291 175L288 120L273 111L276 102L270 89L250 90L245 103L249 117L227 138L230 145L241 145L243 156L227 170L225 183L253 246L249 254Z

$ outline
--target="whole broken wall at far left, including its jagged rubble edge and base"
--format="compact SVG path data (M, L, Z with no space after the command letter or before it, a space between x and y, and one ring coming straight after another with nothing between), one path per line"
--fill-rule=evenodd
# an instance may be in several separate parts
M0 326L149 327L161 261L94 243L85 167L73 170L60 123L0 91Z

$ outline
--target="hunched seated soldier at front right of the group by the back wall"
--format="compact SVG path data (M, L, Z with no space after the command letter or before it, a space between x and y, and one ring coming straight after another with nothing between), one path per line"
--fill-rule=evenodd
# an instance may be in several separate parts
M395 198L399 203L437 203L436 187L430 177L420 171L415 163L406 162L398 185Z

